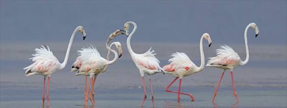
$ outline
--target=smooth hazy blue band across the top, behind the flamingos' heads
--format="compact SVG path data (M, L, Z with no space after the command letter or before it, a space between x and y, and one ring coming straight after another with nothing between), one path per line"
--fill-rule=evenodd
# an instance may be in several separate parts
M128 21L138 26L133 42L194 43L208 32L214 43L242 44L245 27L252 22L260 37L249 36L250 44L287 42L286 0L0 2L0 42L66 42L79 25L89 41L105 41Z

